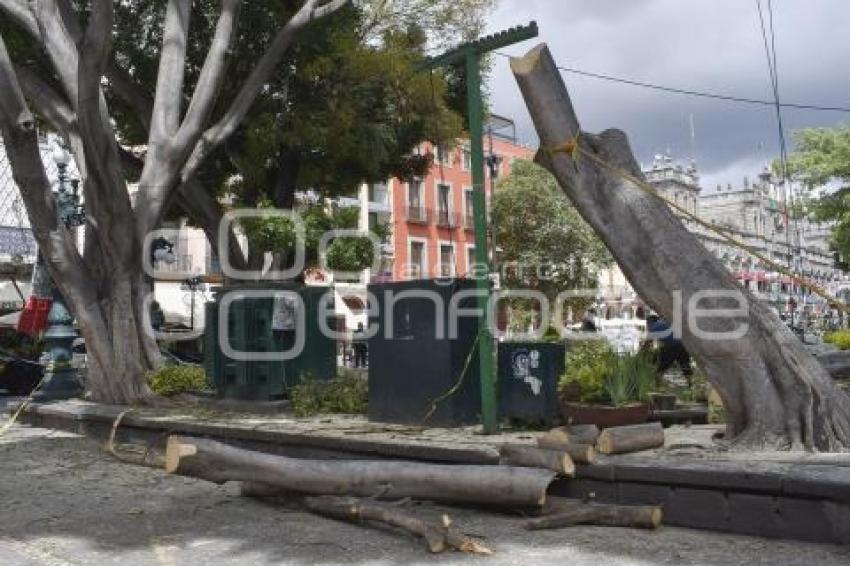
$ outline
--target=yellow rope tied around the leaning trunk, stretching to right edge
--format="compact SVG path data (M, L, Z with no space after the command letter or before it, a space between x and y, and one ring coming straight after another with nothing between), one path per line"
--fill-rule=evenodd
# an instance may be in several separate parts
M789 277L792 281L799 284L800 286L809 287L812 290L813 293L815 293L816 295L818 295L819 297L821 297L823 299L826 299L826 301L829 304L834 305L836 308L838 308L838 309L840 309L840 310L842 310L846 313L850 313L850 306L839 301L836 297L831 296L823 287L821 287L820 285L818 285L814 281L811 281L810 279L807 279L807 278L803 277L802 275L797 275L796 273L794 273L790 269L788 269L788 268L784 267L783 265L780 265L779 263L773 261L772 259L762 255L761 253L759 253L757 250L755 250L751 246L748 246L744 242L741 242L741 241L733 238L732 236L730 236L727 233L726 230L724 230L724 229L722 229L718 226L715 226L715 225L713 225L709 222L706 222L705 220L697 217L695 214L692 214L687 209L679 206L679 204L667 200L666 198L664 198L663 196L661 196L658 193L658 191L655 189L655 187L653 187L652 185L650 185L646 181L638 179L637 177L635 177L634 175L632 175L628 171L624 171L624 170L620 169L619 167L616 167L616 166L608 163L607 161L605 161L604 159L602 159L601 157L599 157L595 153L588 151L587 149L581 147L578 143L578 136L579 136L579 134L576 134L576 136L574 138L572 138L572 139L570 139L570 140L568 140L564 143L555 145L555 146L550 147L550 148L544 148L543 150L550 156L555 154L555 153L567 153L568 155L570 155L570 157L572 157L573 160L575 160L576 156L578 156L579 154L587 156L591 161L598 164L599 166L604 167L605 169L611 171L612 173L621 177L622 179L629 181L631 184L633 184L635 187L642 190L643 192L661 200L662 202L667 204L667 206L669 206L673 210L679 212L682 216L692 220L696 224L699 224L700 226L702 226L706 230L717 234L727 244L729 244L733 247L744 250L748 254L750 254L753 257L757 258L758 260L762 261L765 265L768 265L771 268L773 268L773 270L777 271L778 273L781 273L782 275L785 275L786 277Z

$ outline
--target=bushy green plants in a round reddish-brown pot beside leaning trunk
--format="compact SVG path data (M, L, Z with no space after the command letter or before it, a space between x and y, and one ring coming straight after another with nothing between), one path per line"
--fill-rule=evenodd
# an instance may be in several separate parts
M602 428L646 422L656 379L647 355L619 356L604 340L582 341L567 354L558 383L562 415L571 424Z

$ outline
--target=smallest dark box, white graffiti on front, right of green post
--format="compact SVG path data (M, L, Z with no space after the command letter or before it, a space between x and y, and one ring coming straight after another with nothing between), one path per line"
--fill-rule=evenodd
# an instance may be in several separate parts
M561 421L558 379L566 348L560 343L499 344L499 413L502 418L556 425Z

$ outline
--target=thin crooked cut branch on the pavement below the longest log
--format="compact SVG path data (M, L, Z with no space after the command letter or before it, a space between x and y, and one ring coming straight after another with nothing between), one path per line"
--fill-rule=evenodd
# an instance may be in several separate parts
M453 529L446 516L443 517L444 524L435 525L399 507L353 497L305 497L303 503L308 510L334 519L355 523L376 522L399 528L421 537L430 552L438 553L451 549L471 554L492 554L486 546Z

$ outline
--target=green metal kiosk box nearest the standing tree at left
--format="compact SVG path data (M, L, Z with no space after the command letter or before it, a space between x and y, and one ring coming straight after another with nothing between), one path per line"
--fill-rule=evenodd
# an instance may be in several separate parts
M274 291L297 293L297 301L277 300ZM232 300L236 293L249 296ZM245 400L269 400L285 397L305 377L327 380L336 374L336 341L319 327L321 301L330 301L326 309L327 327L334 328L333 290L303 285L263 285L220 287L215 301L206 306L204 367L219 397ZM266 296L257 296L265 293ZM230 299L228 299L228 296ZM257 355L241 360L228 357L219 342L219 312L222 301L230 301L228 333L230 347L236 352L260 355L290 350L296 342L297 318L303 317L304 346L289 360L259 360ZM277 319L275 320L275 307ZM283 315L281 315L283 313Z

